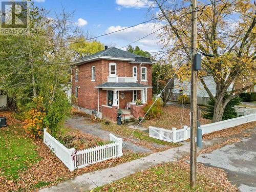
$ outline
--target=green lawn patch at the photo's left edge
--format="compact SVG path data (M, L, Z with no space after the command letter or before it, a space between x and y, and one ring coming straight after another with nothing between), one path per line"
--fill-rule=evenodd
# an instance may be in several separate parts
M0 129L0 176L8 180L18 178L18 173L40 159L33 140L22 134L20 126Z

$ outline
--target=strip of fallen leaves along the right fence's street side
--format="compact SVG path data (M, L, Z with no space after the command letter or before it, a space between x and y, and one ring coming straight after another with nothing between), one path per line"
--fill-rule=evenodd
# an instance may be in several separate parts
M254 127L256 127L256 121L240 124L238 126L233 126L225 130L205 134L203 135L203 140L213 139L216 137L230 137L232 135L238 135L242 131L254 129Z

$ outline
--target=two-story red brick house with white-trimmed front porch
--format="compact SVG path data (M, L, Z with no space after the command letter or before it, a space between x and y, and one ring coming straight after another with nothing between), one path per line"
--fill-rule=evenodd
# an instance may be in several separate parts
M117 121L117 111L138 118L152 99L152 61L115 47L79 59L72 68L75 106ZM141 100L142 105L135 101Z

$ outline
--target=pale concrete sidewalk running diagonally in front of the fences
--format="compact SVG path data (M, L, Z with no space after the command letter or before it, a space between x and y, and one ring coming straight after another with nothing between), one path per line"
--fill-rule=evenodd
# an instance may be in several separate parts
M151 166L176 161L183 155L187 155L189 151L190 144L184 142L184 145L180 147L170 148L169 150L154 153L141 159L126 162L115 167L83 174L59 183L56 186L44 188L39 191L87 191L124 178L131 174L135 174L141 170L150 168Z

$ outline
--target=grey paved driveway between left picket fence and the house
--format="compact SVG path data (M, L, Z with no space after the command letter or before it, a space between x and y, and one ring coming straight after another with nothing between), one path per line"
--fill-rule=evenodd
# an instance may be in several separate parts
M109 131L105 131L101 129L100 123L91 122L90 118L81 117L81 116L73 116L66 120L65 122L66 127L71 127L73 129L78 129L83 133L88 133L94 136L97 136L103 140L109 140L110 133ZM117 137L120 137L117 134L114 134ZM125 141L123 141L125 143ZM133 144L132 142L126 142L124 148L132 150L134 152L151 152L150 149L138 146Z

